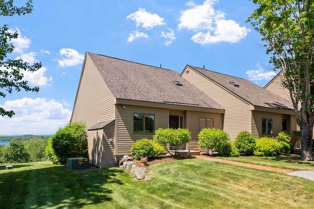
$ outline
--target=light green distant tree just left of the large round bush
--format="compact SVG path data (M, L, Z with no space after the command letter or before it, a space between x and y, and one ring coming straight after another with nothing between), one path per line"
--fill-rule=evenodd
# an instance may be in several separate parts
M48 144L48 138L30 138L29 140L23 141L23 143L30 155L30 162L47 160L45 148Z

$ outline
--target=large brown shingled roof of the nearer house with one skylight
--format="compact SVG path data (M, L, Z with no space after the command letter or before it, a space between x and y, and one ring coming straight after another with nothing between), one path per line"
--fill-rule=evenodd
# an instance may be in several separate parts
M180 73L87 52L117 99L223 108L194 87ZM182 86L174 81L180 82Z

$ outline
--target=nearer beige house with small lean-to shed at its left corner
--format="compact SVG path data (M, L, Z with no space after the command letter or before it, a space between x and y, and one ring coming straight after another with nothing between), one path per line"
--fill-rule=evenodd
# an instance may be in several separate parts
M179 72L87 52L70 122L86 123L92 164L114 166L158 128L188 128L198 145L205 127L223 129L224 108Z

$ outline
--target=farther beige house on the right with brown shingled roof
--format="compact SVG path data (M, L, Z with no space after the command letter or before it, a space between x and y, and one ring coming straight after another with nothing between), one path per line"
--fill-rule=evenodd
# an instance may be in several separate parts
M223 130L231 139L240 131L261 138L295 130L291 102L275 93L242 78L189 65L181 75L225 109Z

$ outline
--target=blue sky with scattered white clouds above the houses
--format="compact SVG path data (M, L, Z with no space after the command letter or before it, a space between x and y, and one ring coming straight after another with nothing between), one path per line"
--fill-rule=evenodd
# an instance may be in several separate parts
M22 4L24 0L16 0ZM10 59L42 62L25 73L39 93L13 92L0 106L0 135L54 134L69 123L85 52L182 72L188 65L264 86L274 72L261 36L245 23L250 0L33 0L25 16L0 17L19 32Z

